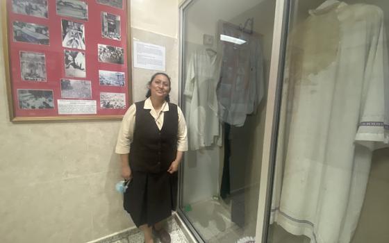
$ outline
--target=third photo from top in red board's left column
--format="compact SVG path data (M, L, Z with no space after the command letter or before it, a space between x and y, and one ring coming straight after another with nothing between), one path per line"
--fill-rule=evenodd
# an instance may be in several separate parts
M20 74L24 81L47 81L44 53L20 51Z

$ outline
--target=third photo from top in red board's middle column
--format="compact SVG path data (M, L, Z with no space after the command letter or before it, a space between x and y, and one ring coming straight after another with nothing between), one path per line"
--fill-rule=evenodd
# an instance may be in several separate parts
M85 78L85 53L82 51L64 51L65 76Z

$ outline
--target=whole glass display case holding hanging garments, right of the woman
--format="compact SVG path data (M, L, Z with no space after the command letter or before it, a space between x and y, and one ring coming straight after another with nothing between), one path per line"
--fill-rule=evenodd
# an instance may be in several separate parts
M179 215L197 240L388 242L389 3L180 9Z

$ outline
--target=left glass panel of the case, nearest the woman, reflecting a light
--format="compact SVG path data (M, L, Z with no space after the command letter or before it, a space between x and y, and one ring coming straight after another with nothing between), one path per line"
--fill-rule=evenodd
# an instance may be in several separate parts
M181 210L206 242L255 237L274 8L197 0L183 11Z

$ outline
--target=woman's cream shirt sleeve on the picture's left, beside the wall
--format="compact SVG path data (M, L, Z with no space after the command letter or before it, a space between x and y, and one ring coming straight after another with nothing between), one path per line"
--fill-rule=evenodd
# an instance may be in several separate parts
M135 128L135 113L136 106L135 104L132 104L123 117L119 135L117 135L115 153L130 153L130 146L131 142L133 142L133 131Z

